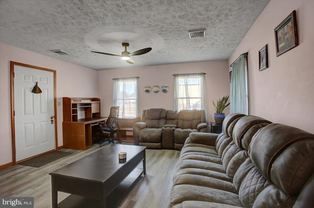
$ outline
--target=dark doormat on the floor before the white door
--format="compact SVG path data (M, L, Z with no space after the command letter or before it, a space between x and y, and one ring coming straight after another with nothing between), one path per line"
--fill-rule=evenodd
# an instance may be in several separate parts
M45 155L41 155L36 158L30 159L28 161L20 162L18 164L32 167L41 167L45 164L56 161L70 154L72 154L72 152L53 151Z

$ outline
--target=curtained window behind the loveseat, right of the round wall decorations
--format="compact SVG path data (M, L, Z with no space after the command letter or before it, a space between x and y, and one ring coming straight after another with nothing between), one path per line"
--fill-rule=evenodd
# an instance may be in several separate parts
M174 110L206 110L205 73L175 74Z

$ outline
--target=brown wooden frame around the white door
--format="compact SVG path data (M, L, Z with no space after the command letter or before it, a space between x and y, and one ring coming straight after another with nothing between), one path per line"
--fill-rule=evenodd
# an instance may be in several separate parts
M10 61L10 76L11 76L11 134L12 134L12 165L16 165L16 151L15 151L15 120L14 120L14 65L28 67L33 69L45 70L53 72L53 91L54 91L54 134L55 134L55 151L58 148L58 134L57 134L57 100L56 100L56 71L42 67L36 67L28 64L22 64ZM49 151L51 152L51 151Z

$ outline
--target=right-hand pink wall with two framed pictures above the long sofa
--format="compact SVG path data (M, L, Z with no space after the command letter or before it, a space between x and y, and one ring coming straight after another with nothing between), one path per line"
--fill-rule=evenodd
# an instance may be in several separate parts
M299 46L276 57L274 28L296 10ZM248 52L250 114L314 133L314 1L271 0L229 65ZM268 44L269 67L259 71L259 49ZM231 70L231 68L230 68Z

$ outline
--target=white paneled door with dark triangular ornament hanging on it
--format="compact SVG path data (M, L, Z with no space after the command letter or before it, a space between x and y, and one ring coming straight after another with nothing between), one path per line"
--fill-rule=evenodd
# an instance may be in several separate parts
M55 149L53 75L14 65L16 162ZM42 93L31 92L36 82Z

